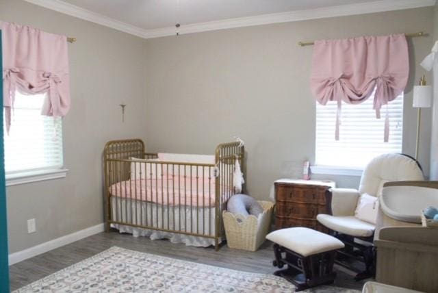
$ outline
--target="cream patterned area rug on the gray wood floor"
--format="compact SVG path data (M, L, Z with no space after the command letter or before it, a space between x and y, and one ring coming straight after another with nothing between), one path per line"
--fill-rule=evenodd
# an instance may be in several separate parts
M185 262L112 247L14 292L291 292L274 275ZM303 292L357 292L322 286Z

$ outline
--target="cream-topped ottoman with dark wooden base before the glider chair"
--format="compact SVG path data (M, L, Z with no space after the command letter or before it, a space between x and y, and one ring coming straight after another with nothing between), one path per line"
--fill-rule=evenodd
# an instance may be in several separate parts
M309 228L295 227L273 231L266 239L274 242L274 266L281 276L296 285L297 291L335 281L333 263L337 249L344 244L332 237ZM285 253L284 257L282 254Z

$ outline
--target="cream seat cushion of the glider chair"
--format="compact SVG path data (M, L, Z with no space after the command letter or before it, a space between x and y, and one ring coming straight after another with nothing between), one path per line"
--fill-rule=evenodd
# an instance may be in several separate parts
M325 227L355 237L368 237L374 233L375 226L369 222L359 220L355 216L330 216L319 214L318 222Z

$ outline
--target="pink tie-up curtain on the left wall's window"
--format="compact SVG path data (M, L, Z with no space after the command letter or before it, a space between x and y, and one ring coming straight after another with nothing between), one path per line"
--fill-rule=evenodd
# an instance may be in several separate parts
M9 131L15 91L47 92L41 114L65 116L70 108L66 36L0 22L3 35L3 104Z

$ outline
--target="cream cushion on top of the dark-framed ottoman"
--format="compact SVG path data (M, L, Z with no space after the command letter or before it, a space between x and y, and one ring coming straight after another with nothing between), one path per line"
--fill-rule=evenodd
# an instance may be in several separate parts
M266 239L304 257L344 247L344 243L331 235L303 227L276 230L266 235Z

